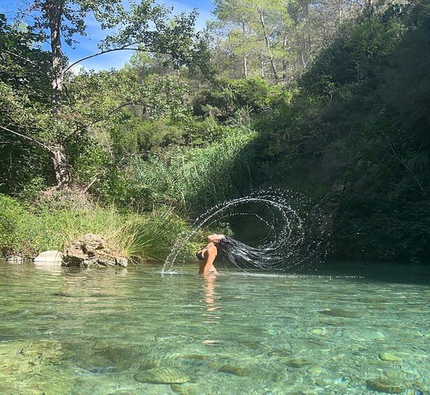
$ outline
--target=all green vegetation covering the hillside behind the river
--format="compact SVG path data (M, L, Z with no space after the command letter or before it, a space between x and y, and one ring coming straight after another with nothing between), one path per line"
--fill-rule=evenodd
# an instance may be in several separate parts
M163 259L206 208L279 187L332 218L329 256L426 262L430 6L256 4L216 1L208 36L183 15L124 69L66 72L60 104L41 32L0 18L1 253L97 228Z

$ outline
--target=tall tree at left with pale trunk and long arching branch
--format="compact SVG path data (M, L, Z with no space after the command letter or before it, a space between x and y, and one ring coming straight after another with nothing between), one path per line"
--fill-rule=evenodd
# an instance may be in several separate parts
M70 187L72 177L66 145L71 139L86 134L88 125L75 122L73 108L64 106L64 83L68 71L85 59L123 50L163 53L177 67L183 64L196 66L202 60L202 55L198 52L205 52L205 45L194 34L196 13L182 13L169 20L170 10L156 5L152 0L133 2L130 10L126 10L120 0L35 0L29 10L28 16L32 18L30 31L50 41L52 115L44 115L43 122L36 122L35 128L44 126L45 129L40 129L32 136L27 136L22 131L22 122L9 122L9 126L3 127L3 131L27 138L47 150L54 164L57 187ZM88 15L93 15L102 29L119 29L105 36L99 44L100 51L96 54L67 63L61 40L73 45L76 42L75 34L85 35L85 17ZM34 72L33 69L27 70ZM19 120L18 113L15 112L15 120ZM38 137L43 139L39 140Z

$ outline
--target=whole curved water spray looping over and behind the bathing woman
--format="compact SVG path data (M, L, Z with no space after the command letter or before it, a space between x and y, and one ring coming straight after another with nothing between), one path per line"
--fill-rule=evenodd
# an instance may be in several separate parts
M238 208L244 204L257 203L265 206L269 219L262 215L241 213ZM303 196L292 196L290 192L279 189L268 189L254 192L248 196L219 203L209 208L195 220L193 229L179 235L163 266L162 273L170 273L172 266L184 245L195 236L198 230L209 227L233 216L253 215L267 228L265 238L254 243L242 243L234 238L225 237L218 245L225 258L235 267L242 270L260 268L265 270L287 270L310 261L320 252L323 238L323 227L318 236L310 238L309 223L312 227L321 225L322 216L313 210L305 213L302 206L306 204ZM294 208L292 206L295 206Z

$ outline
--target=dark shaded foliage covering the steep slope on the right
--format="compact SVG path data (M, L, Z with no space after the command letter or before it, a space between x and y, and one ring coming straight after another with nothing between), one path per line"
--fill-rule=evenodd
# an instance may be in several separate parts
M430 20L417 8L369 10L341 25L299 89L255 122L257 182L321 199L334 213L336 256L429 254Z

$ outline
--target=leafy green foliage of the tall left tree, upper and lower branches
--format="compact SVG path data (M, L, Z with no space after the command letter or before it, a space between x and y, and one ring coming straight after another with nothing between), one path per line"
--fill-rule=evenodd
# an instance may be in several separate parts
M101 52L95 55L116 50L154 52L165 55L165 62L171 62L175 69L188 65L193 71L199 66L204 67L209 55L205 42L194 32L195 11L170 19L171 10L152 0L131 1L129 7L118 0L34 0L28 9L20 12L29 23L24 32L8 26L6 17L0 15L0 49L4 62L0 66L0 94L3 96L0 129L2 134L6 133L6 143L10 140L14 143L13 138L20 137L38 150L45 150L46 156L52 159L47 163L52 165L57 187L67 189L73 186L73 181L76 184L88 179L71 173L76 170L75 164L83 164L87 173L97 161L103 164L101 155L95 155L89 161L91 165L87 166L84 157L89 150L85 148L94 136L94 129L98 131L94 124L112 122L112 113L120 108L150 108L148 113L157 118L166 113L166 109L170 110L172 118L187 115L182 106L184 89L181 91L172 78L148 76L143 85L136 86L126 73L99 73L97 76L87 73L81 78L68 76L73 66L83 59L67 64L61 42L73 45L75 34L84 36L86 18L92 15L102 29L114 31L101 41ZM31 48L31 39L36 38L50 41L49 54ZM14 63L13 59L18 61ZM34 78L34 74L42 77ZM87 82L86 89L76 89L78 85L82 87L82 80ZM115 81L119 83L112 84ZM25 82L31 82L31 85ZM66 92L63 88L68 82L71 89ZM109 89L109 85L116 89ZM134 89L128 89L131 86ZM94 94L91 90L94 87L101 87L101 92ZM67 100L64 100L64 92L68 93ZM108 145L107 138L105 140ZM19 150L13 152L14 155L21 153ZM7 171L10 172L10 168ZM93 176L98 177L97 173Z

